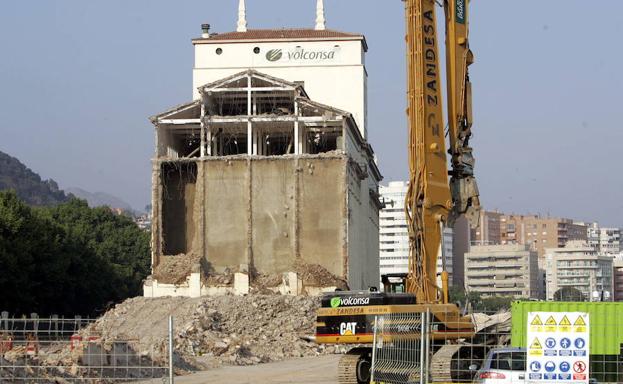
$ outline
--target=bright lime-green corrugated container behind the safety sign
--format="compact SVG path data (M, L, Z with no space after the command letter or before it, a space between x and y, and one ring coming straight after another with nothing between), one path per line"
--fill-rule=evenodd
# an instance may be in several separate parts
M558 301L515 301L511 305L513 347L527 347L528 312L587 312L590 325L590 354L619 355L623 344L623 302L589 303Z

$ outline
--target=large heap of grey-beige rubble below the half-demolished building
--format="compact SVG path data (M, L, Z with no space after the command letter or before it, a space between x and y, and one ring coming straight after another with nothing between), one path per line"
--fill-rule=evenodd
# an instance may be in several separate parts
M140 340L166 351L174 317L176 358L189 369L251 365L342 352L309 341L318 298L283 295L134 298L100 318L89 332L102 339Z

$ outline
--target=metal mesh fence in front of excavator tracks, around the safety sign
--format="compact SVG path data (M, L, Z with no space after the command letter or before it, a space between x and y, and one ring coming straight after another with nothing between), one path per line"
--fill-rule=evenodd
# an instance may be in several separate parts
M484 369L487 355L492 351L497 353L492 354L496 358L491 361L491 368L512 371L515 382L528 382L527 346L513 345L510 310L467 316L476 325L476 332L470 337L453 336L452 331L447 329L449 324L439 320L442 317L439 314L376 316L372 383L477 383L494 378L488 377ZM589 353L587 379L591 384L623 382L623 331L618 331L623 330L623 318L611 322L591 319L591 334L595 343L599 340L594 335L603 334L618 338L616 343L620 345L615 353Z

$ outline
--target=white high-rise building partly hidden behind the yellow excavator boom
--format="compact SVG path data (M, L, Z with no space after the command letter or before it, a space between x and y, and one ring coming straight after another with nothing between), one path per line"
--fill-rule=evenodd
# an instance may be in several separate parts
M379 259L380 274L406 274L409 270L409 234L405 217L405 197L409 184L392 181L379 187L385 208L379 212ZM441 272L445 256L445 268L452 284L452 228L445 228L443 251L437 259L437 271Z

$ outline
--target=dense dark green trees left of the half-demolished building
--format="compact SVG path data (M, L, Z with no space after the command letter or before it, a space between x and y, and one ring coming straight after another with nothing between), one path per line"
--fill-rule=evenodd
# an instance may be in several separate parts
M97 315L141 294L149 233L76 198L31 207L0 192L0 311Z

